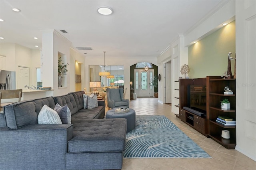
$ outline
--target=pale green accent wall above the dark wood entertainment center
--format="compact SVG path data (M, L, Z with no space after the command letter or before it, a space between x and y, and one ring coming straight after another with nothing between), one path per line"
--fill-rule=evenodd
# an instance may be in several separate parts
M188 47L189 78L208 75L222 75L228 69L228 52L235 58L236 23L235 21ZM231 71L234 75L234 63Z

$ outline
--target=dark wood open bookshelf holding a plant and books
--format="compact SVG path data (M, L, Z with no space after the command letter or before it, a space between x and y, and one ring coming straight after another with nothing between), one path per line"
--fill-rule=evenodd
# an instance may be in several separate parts
M206 98L207 98L207 119L209 124L208 135L210 138L227 149L234 149L236 146L236 125L225 126L216 122L218 116L227 116L236 119L236 79L223 79L221 76L206 77ZM234 94L224 94L224 87L229 86ZM222 99L230 101L230 109L221 109ZM230 131L230 139L221 137L222 130Z

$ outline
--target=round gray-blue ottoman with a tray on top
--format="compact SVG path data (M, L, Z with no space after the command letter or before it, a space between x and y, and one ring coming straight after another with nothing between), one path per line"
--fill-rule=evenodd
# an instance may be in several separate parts
M127 130L126 132L130 132L135 128L135 111L129 108L129 112L127 113L115 113L117 108L111 109L106 113L106 119L112 118L125 118L127 120Z

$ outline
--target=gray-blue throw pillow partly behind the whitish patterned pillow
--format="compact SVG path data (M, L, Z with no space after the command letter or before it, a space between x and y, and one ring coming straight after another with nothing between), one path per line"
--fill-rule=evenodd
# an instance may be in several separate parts
M71 124L71 112L68 105L61 107L58 103L54 107L54 111L60 116L60 120L63 124Z

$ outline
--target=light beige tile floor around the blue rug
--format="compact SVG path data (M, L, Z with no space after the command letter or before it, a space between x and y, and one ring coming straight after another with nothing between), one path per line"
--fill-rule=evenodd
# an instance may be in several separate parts
M175 106L174 106L175 107ZM256 162L237 150L228 150L176 118L171 106L158 103L158 98L131 100L136 115L165 115L212 159L197 158L124 158L122 170L256 170ZM172 141L170 141L172 142Z

